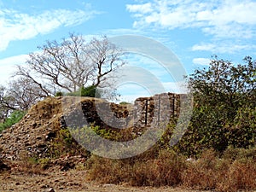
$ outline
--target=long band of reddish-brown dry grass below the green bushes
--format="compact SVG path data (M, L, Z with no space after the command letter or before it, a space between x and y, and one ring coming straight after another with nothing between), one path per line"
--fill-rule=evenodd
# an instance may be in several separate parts
M161 150L155 158L148 158L149 154L127 160L92 156L88 160L88 178L99 183L132 186L182 186L225 192L256 189L256 161L252 156L236 160L220 158L212 149L198 160L186 160L168 150Z

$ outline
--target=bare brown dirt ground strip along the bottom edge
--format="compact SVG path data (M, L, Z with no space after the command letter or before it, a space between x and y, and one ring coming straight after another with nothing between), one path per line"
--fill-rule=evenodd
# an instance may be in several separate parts
M133 192L190 192L193 190L161 187L131 187L126 184L100 184L85 179L86 171L71 170L67 172L45 172L40 175L22 174L20 172L2 172L0 174L0 191L42 191L42 192L75 192L75 191L133 191ZM194 190L195 192L195 190Z

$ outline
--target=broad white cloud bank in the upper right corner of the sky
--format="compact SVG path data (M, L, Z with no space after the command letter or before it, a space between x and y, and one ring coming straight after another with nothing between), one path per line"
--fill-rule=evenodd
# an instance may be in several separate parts
M126 9L135 17L136 27L200 27L202 32L216 38L256 36L256 2L253 0L154 0L152 3L128 4Z

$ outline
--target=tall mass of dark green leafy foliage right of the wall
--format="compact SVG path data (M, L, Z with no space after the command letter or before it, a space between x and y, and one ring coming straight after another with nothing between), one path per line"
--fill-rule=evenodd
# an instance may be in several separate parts
M189 76L195 107L177 151L198 155L204 148L223 152L255 145L256 62L244 61L234 65L214 57L208 68Z

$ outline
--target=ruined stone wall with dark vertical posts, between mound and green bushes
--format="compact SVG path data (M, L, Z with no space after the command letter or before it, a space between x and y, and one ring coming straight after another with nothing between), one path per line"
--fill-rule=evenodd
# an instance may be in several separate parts
M178 117L180 96L173 93L163 93L151 97L140 97L133 105L119 105L99 99L82 101L82 112L73 110L65 118L69 125L83 126L83 119L91 124L104 128L143 129L145 127L159 126L169 122L171 118ZM84 116L84 117L82 117Z

